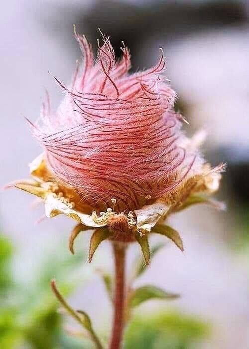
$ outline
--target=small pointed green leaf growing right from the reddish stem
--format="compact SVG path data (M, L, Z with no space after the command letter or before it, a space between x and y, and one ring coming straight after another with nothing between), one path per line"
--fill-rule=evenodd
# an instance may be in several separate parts
M129 306L134 308L150 299L176 299L178 297L179 295L166 292L159 287L146 285L139 287L132 292L129 298Z

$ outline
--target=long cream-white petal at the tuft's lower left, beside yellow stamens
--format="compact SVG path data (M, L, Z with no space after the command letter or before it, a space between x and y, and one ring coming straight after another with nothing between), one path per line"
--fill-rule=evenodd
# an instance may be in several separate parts
M89 214L81 213L69 207L69 204L63 202L63 198L56 196L54 193L48 193L44 200L45 215L47 217L54 217L58 214L66 214L68 217L83 223L89 227L99 228L106 224L98 224L93 220Z

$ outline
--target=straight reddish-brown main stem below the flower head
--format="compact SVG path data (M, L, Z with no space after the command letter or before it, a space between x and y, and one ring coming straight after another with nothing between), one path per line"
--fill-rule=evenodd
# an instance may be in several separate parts
M114 320L109 349L120 349L124 331L124 278L125 278L124 243L113 242L115 259L115 297Z

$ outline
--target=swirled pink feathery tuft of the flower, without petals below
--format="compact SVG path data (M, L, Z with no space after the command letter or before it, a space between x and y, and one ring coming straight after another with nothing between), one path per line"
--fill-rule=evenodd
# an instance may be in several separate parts
M55 114L49 103L32 127L54 178L96 210L129 211L150 204L182 184L200 157L183 146L175 92L162 75L163 53L150 69L128 74L123 45L117 60L109 37L94 60L85 36L75 34L84 60ZM53 178L53 180L55 180Z

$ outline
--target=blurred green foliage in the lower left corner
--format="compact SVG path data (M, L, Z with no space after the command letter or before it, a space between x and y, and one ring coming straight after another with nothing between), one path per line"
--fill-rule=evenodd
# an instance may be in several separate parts
M67 282L70 272L82 263L83 255L59 253L48 256L39 266L32 283L14 279L13 247L0 236L0 348L1 349L78 349L91 348L63 330L58 302L50 289L56 276L64 295L74 287ZM57 251L58 252L58 251ZM70 279L70 278L69 278Z

